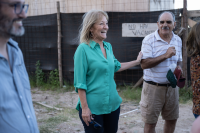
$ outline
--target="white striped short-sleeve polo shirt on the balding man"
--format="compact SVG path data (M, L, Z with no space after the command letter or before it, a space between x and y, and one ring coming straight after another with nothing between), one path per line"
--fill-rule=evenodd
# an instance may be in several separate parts
M173 33L173 32L172 32ZM173 33L170 43L164 41L158 34L158 30L146 36L142 41L142 59L156 58L167 52L169 47L175 47L176 55L168 58L155 67L144 69L144 80L156 83L169 83L166 78L169 66L182 61L182 41L179 36Z

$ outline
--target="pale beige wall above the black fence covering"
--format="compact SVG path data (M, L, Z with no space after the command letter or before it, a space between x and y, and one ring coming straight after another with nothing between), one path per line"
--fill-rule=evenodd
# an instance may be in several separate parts
M173 9L173 0L25 0L29 4L28 16L57 12L60 1L63 13L84 13L91 9L112 12L146 12ZM161 2L162 1L162 2Z

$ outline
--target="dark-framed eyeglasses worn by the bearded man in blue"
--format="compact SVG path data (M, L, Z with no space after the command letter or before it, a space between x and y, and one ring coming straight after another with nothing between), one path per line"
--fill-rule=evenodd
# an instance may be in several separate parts
M24 11L25 13L27 13L28 7L29 7L28 4L22 4L22 3L9 3L9 2L0 2L0 3L2 3L2 4L8 4L9 6L14 7L15 13L17 15L21 14L22 11Z

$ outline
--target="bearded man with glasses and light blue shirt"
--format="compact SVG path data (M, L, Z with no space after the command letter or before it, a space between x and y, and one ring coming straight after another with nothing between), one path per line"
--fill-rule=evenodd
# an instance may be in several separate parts
M39 133L28 74L18 44L24 34L24 0L0 0L0 132Z

